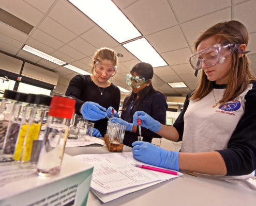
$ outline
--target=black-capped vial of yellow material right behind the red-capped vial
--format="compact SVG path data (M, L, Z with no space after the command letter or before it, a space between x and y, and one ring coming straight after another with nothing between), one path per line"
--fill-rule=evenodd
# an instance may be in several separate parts
M42 144L42 140L38 140L39 133L42 129L42 123L50 110L51 99L52 96L48 95L41 94L36 96L34 102L36 106L31 111L24 141L22 143L19 143L19 139L17 141L13 159L21 160L20 166L23 168L36 167Z

